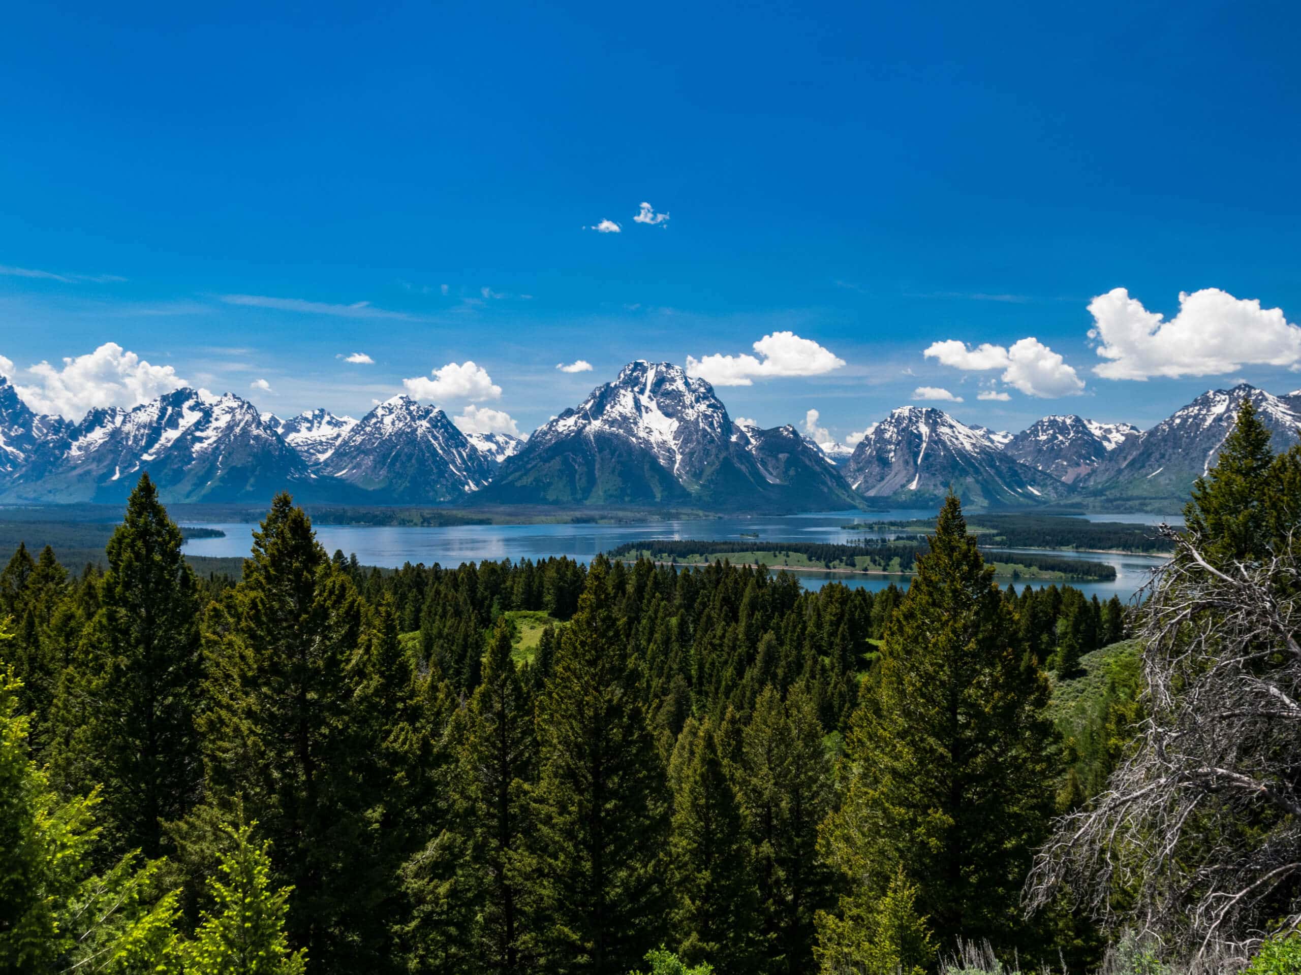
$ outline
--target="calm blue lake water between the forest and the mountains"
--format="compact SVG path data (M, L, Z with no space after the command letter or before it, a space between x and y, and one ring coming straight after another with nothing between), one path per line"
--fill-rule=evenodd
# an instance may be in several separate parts
M686 519L680 521L644 521L621 525L449 525L440 528L316 525L316 537L327 551L342 550L356 555L363 566L397 568L403 563L459 566L462 562L500 562L501 559L545 559L566 555L588 562L602 551L624 542L649 540L717 540L743 541L742 533L756 534L758 542L853 542L864 537L890 537L885 532L843 528L864 521L904 521L934 517L932 510L899 508L894 511L833 511L786 517L721 517ZM1170 520L1149 515L1090 515L1090 521L1120 520L1137 524L1160 524ZM194 538L185 543L190 555L241 558L248 554L256 525L245 523L204 523L219 528L225 538ZM1049 554L1045 550L1034 550ZM1128 601L1147 581L1153 568L1163 560L1150 555L1112 555L1106 552L1053 551L1073 559L1107 562L1116 567L1111 582L1072 582L1085 595L1110 599L1119 595ZM800 582L817 589L826 582L843 582L852 588L885 589L890 582L908 585L908 576L856 576L838 572L796 572Z

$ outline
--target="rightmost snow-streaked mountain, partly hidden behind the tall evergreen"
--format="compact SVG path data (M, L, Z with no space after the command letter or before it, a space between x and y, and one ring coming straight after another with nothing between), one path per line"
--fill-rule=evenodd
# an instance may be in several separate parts
M1275 451L1296 443L1301 410L1289 399L1270 395L1246 382L1228 390L1207 390L1114 450L1089 478L1089 493L1131 502L1187 500L1193 481L1215 464L1246 398L1272 430Z

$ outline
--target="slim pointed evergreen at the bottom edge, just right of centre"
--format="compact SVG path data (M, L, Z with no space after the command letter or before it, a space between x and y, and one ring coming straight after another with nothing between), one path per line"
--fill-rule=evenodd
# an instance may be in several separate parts
M706 720L678 740L684 754L674 789L673 931L688 962L719 972L753 971L757 889L740 807Z

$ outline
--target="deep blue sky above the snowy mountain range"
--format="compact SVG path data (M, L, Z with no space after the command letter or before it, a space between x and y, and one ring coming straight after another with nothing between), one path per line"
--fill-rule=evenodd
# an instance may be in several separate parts
M109 342L280 413L360 415L472 360L490 381L445 373L442 404L520 430L635 358L732 356L734 416L812 408L837 438L919 390L1020 429L1301 386L1293 4L47 0L5 21L0 358L33 400L79 408L105 369L127 378L103 395L148 391L116 352L59 376ZM635 222L641 202L669 220ZM1114 289L1105 359L1089 307ZM843 365L752 347L787 332ZM924 355L939 342L965 348Z

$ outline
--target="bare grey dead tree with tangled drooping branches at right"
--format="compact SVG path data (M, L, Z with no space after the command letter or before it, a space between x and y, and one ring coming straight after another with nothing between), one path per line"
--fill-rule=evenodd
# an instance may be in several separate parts
M1107 788L1060 818L1025 885L1140 937L1244 958L1301 928L1301 576L1292 545L1214 566L1168 529L1149 584L1145 718Z

